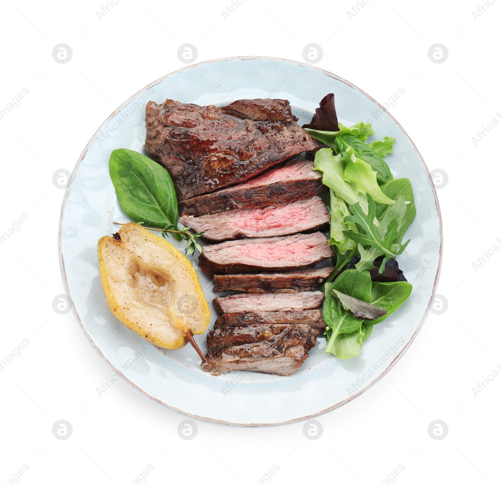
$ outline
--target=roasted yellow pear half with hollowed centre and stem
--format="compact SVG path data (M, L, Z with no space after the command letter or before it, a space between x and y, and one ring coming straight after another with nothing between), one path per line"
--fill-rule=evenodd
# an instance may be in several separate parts
M198 276L167 240L127 223L99 240L98 256L108 307L129 329L167 349L205 331L210 311Z

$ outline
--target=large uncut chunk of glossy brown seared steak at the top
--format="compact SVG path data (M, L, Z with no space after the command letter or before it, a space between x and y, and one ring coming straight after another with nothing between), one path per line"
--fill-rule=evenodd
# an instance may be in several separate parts
M172 99L146 104L146 152L168 170L179 200L247 180L317 146L283 99L223 108Z

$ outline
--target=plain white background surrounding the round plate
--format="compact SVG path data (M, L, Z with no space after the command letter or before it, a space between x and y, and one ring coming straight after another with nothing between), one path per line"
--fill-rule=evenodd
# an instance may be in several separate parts
M115 0L117 1L117 0ZM241 0L240 0L241 1ZM22 91L20 105L0 120L0 232L29 215L0 246L0 359L24 338L20 355L0 372L0 483L23 464L23 482L490 482L498 481L501 378L476 396L496 364L501 254L472 263L494 244L499 227L499 134L476 146L472 137L501 111L498 94L501 2L476 19L478 2L365 0L291 3L244 0L226 19L227 2L120 0L98 19L99 2L16 2L2 7L0 109ZM71 46L59 64L52 49ZM430 170L448 183L438 190L444 256L437 292L448 300L429 314L397 365L361 396L318 418L323 434L303 435L303 423L232 428L196 422L190 441L177 434L186 417L153 403L112 375L72 313L52 309L64 292L57 233L64 190L52 176L73 170L103 120L146 84L184 67L183 43L197 62L265 55L304 61L317 43L316 64L386 102ZM448 49L435 64L432 44ZM160 100L157 100L160 101ZM17 101L16 101L17 102ZM485 132L484 132L485 133ZM481 387L480 387L481 388ZM67 420L73 434L58 440L52 426ZM448 435L434 440L440 419ZM277 464L279 470L266 475ZM399 464L404 467L391 475ZM25 468L26 468L25 466ZM386 481L384 479L387 479Z

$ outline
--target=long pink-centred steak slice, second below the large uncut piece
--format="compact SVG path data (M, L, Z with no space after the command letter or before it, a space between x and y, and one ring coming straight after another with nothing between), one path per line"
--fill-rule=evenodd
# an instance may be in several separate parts
M316 232L329 225L331 216L324 202L315 196L264 208L228 210L201 217L183 216L179 221L194 232L204 231L202 238L213 243L238 238Z

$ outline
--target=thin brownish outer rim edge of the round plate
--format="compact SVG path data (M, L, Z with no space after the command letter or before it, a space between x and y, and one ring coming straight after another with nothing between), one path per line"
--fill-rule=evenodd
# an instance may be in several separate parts
M261 422L260 423L235 423L235 422L230 422L230 421L221 420L221 419L213 419L213 418L209 418L209 417L204 417L202 415L191 414L189 412L186 412L186 411L183 411L183 410L178 409L176 407L173 407L171 405L168 405L165 402L162 402L161 400L153 397L149 393L147 393L144 390L142 390L141 388L139 388L131 380L129 380L102 353L102 351L100 350L100 348L94 343L94 341L93 341L90 333L87 331L87 329L83 325L82 320L80 318L80 315L75 310L75 307L74 307L74 304L73 304L73 300L71 298L71 292L70 292L70 287L68 285L68 279L67 279L67 276L66 276L65 262L64 262L63 251L62 251L62 230L63 230L63 217L64 217L65 208L66 208L66 202L68 200L71 186L72 186L73 181L74 181L74 179L76 177L76 174L77 174L77 172L78 172L78 170L80 168L82 160L87 155L87 151L89 150L90 146L95 141L95 139L97 138L97 136L100 133L101 129L123 107L125 107L127 104L129 104L129 102L131 102L141 92L144 92L146 89L148 89L148 88L150 88L150 87L152 87L152 86L154 86L154 85L162 82L164 79L167 79L168 77L170 77L170 76L172 76L174 74L177 74L178 72L185 71L185 70L188 70L188 69L191 69L193 67L200 66L200 65L203 65L203 64L212 64L214 62L231 61L231 60L256 60L256 59L270 59L270 60L276 60L276 61L282 61L282 62L290 62L290 63L297 64L299 66L304 66L304 67L309 67L309 68L312 68L312 69L316 69L316 70L318 70L318 71L320 71L320 72L328 75L329 77L332 77L332 78L334 78L334 79L336 79L338 81L341 81L341 82L347 84L351 88L356 89L361 94L363 94L368 99L370 99L372 102L374 102L380 109L383 110L383 112L385 112L386 114L388 114L388 116L393 120L393 122L398 126L398 128L403 132L403 134L410 141L412 147L416 151L416 153L417 153L417 155L419 157L419 160L421 161L421 163L422 163L422 165L423 165L423 167L424 167L424 169L426 171L426 174L428 176L428 182L429 182L429 184L431 186L431 189L432 189L432 192L433 192L433 198L435 200L435 207L436 207L437 213L438 213L438 223L439 223L439 227L440 227L440 247L439 247L439 253L438 253L438 267L437 267L437 272L436 272L436 275L435 275L435 280L433 282L433 291L431 293L431 297L430 297L430 299L428 301L428 305L426 306L426 310L424 311L424 314L423 314L423 316L421 318L421 321L416 326L416 329L412 333L412 335L411 335L409 341L407 342L407 344L393 358L393 360L390 362L390 365L386 368L386 370L381 375L379 375L375 380L373 380L369 385L367 385L367 387L363 388L362 390L358 391L357 393L355 393L353 395L350 395L347 399L345 399L345 400L343 400L341 402L338 402L337 404L335 404L335 405L333 405L331 407L328 407L325 410L321 410L320 412L316 412L316 413L314 413L312 415L308 415L308 416L304 416L304 417L297 417L297 418L294 418L294 419L284 420L284 421L281 421L281 422L273 422L273 423L261 423ZM434 300L434 296L435 296L435 293L436 293L436 289L437 289L437 285L438 285L438 280L440 278L440 272L441 272L441 268L442 268L443 225L442 225L442 214L440 212L440 204L438 202L438 196L437 196L437 192L436 192L436 189L435 189L435 185L433 184L433 180L431 178L431 174L430 174L430 172L428 170L428 167L426 166L426 164L425 164L425 162L423 160L423 157L421 156L421 153L417 149L416 145L414 144L414 142L412 141L412 139L410 138L410 136L403 129L402 125L400 125L400 123L395 119L395 117L384 106L382 106L378 101L376 101L376 99L374 99L372 96L370 96L369 94L367 94L364 90L362 90L359 87L357 87L355 84L352 84L350 81L347 81L346 79L344 79L344 78L342 78L342 77L340 77L340 76L338 76L338 75L336 75L336 74L334 74L332 72L329 72L329 71L327 71L325 69L321 69L320 67L317 67L317 66L314 66L314 65L311 65L311 64L307 64L305 62L299 62L299 61L292 60L292 59L284 59L284 58L281 58L281 57L269 57L269 56L234 56L234 57L222 57L222 58L219 58L219 59L211 59L211 60L207 60L207 61L203 61L203 62L197 62L195 64L190 64L189 66L182 67L181 69L177 69L176 71L169 72L168 74L166 74L166 75L158 78L157 80L155 80L155 81L147 84L145 87L142 87L141 89L139 89L137 92L135 92L133 95L131 95L125 102L123 102L120 106L118 106L104 120L104 122L99 126L99 128L96 130L96 132L94 133L94 135L91 137L91 139L89 140L89 142L87 143L87 145L85 146L85 148L82 150L82 153L80 154L80 157L78 158L78 161L75 164L75 167L74 167L74 169L72 171L71 179L70 179L70 181L69 181L69 183L68 183L68 185L66 187L65 195L64 195L64 198L63 198L63 201L62 201L62 206L61 206L61 214L60 214L60 218L59 218L58 253L59 253L59 265L60 265L60 269L61 269L61 277L63 279L63 284L64 284L64 288L65 288L65 291L66 291L66 295L70 299L70 302L71 302L71 305L72 305L72 313L73 313L74 317L76 318L77 322L79 323L79 325L80 325L83 333L87 336L87 339L89 340L91 346L96 350L96 352L101 356L101 358L103 358L103 360L113 370L113 372L116 375L118 375L120 378L122 378L122 380L124 380L131 387L133 387L134 389L136 389L138 392L142 393L144 396L146 396L150 400L153 400L154 402L160 404L161 406L166 407L166 408L168 408L170 410L173 410L174 412L177 412L177 413L179 413L181 415L186 415L187 417L191 417L191 418L194 418L194 419L197 419L197 420L202 420L204 422L210 422L210 423L222 424L222 425L228 425L228 426L234 426L234 427L275 427L275 426L279 426L279 425L285 425L285 424L291 424L291 423L301 422L301 421L312 419L312 418L318 417L320 415L323 415L325 413L331 412L331 411L333 411L333 410L341 407L342 405L345 405L346 403L350 402L354 398L356 398L359 395L361 395L363 392L367 391L369 388L371 388L376 382L378 382L383 376L385 376L393 368L393 366L396 364L396 362L401 358L401 356L403 355L403 353L407 350L407 348L410 346L410 344L414 341L414 338L416 337L417 333L421 329L421 326L423 325L424 320L426 319L426 316L428 315L428 311L429 311L429 308L431 306L431 303Z

